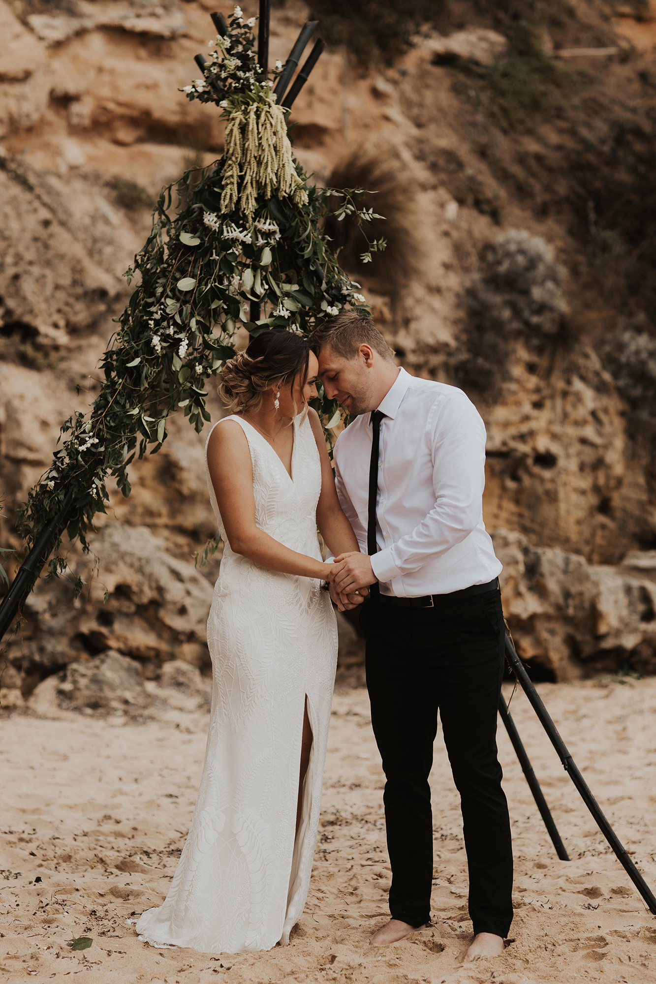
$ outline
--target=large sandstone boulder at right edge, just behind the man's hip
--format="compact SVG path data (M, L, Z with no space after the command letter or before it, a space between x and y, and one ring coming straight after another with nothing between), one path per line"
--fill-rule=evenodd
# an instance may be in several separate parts
M588 565L584 557L533 547L519 533L496 530L503 564L503 610L524 659L558 680L600 670L656 669L656 584L623 566Z

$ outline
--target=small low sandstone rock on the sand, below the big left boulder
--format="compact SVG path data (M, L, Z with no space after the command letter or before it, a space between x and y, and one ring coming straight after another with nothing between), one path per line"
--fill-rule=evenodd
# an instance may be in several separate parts
M70 663L57 684L57 694L77 709L134 710L151 703L139 663L112 649L95 659Z

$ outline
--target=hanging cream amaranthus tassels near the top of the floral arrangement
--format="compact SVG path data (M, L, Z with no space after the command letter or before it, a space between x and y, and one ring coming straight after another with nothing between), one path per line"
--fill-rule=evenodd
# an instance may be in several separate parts
M296 174L287 121L271 95L264 104L253 102L246 110L230 113L226 128L226 163L221 211L231 212L237 202L237 178L243 178L239 209L248 218L255 212L258 195L281 198L291 195L297 205L307 202L307 192Z

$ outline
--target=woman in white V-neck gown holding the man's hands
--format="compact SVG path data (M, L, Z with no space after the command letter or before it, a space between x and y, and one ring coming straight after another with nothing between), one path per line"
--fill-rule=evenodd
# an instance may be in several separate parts
M232 412L206 445L225 543L207 626L212 716L177 870L136 926L157 946L269 950L305 904L337 661L317 526L333 556L359 550L307 405L317 371L307 340L284 329L251 340L223 371Z

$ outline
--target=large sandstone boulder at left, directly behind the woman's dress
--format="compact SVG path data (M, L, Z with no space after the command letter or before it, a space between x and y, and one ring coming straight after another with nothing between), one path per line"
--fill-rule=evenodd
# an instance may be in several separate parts
M208 664L213 588L193 565L171 557L143 526L107 523L90 542L98 572L88 557L70 560L88 583L84 593L73 602L67 581L39 583L25 606L23 639L10 641L10 661L20 661L34 683L107 650L139 659L148 676L181 652L187 663Z

